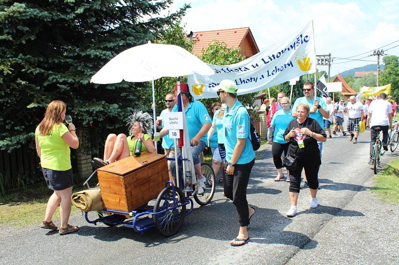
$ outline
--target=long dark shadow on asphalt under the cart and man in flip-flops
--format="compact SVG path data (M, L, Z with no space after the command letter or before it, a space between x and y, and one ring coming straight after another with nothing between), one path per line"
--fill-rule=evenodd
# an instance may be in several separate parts
M261 188L257 190L263 192ZM195 207L198 207L198 205L195 204ZM313 242L304 234L283 231L292 220L281 215L277 210L255 207L256 215L248 226L252 242L292 245L300 248L309 242ZM131 228L124 226L105 227L103 224L82 226L77 234L106 242L130 239L143 244L146 248L157 247L162 244L175 244L188 239L192 242L194 237L218 240L229 247L228 242L237 236L238 229L235 206L227 198L221 198L206 206L195 208L192 214L186 216L180 231L172 237L163 237L155 228L147 230L141 235ZM316 246L317 242L312 245Z

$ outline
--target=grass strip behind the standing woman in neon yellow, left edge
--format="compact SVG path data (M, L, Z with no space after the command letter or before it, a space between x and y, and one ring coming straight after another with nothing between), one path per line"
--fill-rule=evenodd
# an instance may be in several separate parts
M81 185L76 185L81 187ZM82 190L82 188L74 189ZM24 191L13 192L0 197L0 227L12 226L16 228L38 225L43 220L47 200L52 190L45 184L39 187L27 187ZM79 209L72 206L71 212ZM53 220L59 217L59 208L54 213ZM57 223L57 222L55 222Z

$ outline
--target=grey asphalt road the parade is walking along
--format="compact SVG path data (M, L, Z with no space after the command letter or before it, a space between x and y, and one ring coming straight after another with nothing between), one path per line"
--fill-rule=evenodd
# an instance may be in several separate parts
M287 218L288 183L274 182L270 146L262 146L248 185L257 208L249 226L251 241L230 247L238 231L235 207L217 187L213 203L186 216L180 232L164 238L126 227L94 226L81 214L70 223L77 233L59 236L37 225L0 230L0 264L398 264L399 205L382 202L369 190L370 131L352 144L328 139L319 173L319 207L310 209L302 190L298 215ZM383 163L398 158L387 152ZM56 222L57 223L57 222Z

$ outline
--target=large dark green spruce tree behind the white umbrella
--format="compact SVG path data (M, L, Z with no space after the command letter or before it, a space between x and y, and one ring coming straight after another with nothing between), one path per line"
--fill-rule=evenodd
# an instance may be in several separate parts
M92 146L126 132L134 109L149 110L149 84L90 84L118 53L154 40L189 7L160 17L173 0L0 0L0 149L33 137L45 106L61 99Z

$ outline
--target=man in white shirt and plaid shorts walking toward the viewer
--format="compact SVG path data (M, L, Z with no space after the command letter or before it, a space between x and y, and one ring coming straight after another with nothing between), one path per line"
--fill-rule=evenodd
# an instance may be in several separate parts
M349 97L348 105L345 107L345 111L348 113L348 132L350 134L349 141L353 141L354 144L358 143L359 136L359 122L363 120L363 106L360 102L356 101L356 97L351 95Z

